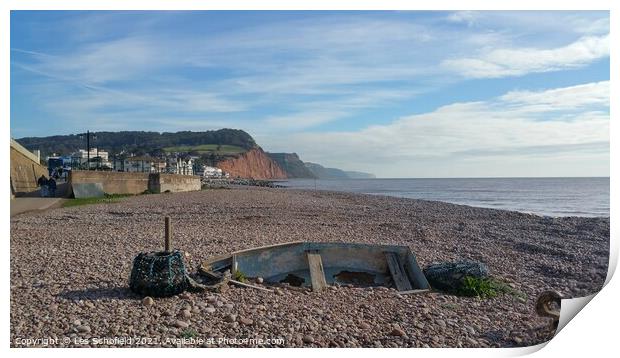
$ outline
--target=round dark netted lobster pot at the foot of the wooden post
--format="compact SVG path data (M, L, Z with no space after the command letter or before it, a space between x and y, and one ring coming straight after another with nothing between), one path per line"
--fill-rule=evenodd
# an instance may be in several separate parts
M140 295L166 297L188 286L180 251L140 253L133 260L129 287Z

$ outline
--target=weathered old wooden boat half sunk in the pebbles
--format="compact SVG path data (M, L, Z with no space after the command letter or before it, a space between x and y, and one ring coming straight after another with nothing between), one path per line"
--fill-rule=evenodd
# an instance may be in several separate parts
M320 290L328 284L390 286L399 291L429 289L415 255L406 246L293 242L214 257L208 272L238 272L266 283L289 283Z

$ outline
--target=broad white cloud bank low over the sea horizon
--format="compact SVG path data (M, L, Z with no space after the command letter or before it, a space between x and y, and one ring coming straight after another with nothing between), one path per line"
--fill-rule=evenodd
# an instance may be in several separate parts
M581 99L585 107L571 103L577 94L587 97ZM285 138L265 135L260 140L269 150L294 150L307 161L387 177L448 175L448 167L463 161L469 167L454 175L491 175L489 161L505 166L527 160L539 165L546 162L547 173L553 173L560 159L562 168L567 168L571 158L577 163L583 157L603 163L599 175L608 171L601 160L609 156L608 86L604 82L584 84L540 91L537 96L540 101L533 93L511 92L490 101L454 103L360 131L299 133ZM559 99L546 100L553 96ZM539 102L545 109L532 111L531 106ZM520 175L540 175L525 164L521 169ZM572 175L592 174L580 172L579 167L572 169Z

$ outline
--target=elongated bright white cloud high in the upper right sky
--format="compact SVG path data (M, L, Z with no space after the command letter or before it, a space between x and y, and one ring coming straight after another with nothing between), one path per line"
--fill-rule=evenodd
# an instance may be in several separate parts
M585 36L553 49L487 48L477 57L447 59L443 68L467 78L497 78L582 67L609 56L609 34Z

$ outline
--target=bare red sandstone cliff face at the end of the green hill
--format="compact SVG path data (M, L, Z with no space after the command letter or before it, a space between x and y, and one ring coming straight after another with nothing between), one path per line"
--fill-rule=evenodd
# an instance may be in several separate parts
M250 149L236 158L217 163L231 178L286 179L286 173L260 148Z

